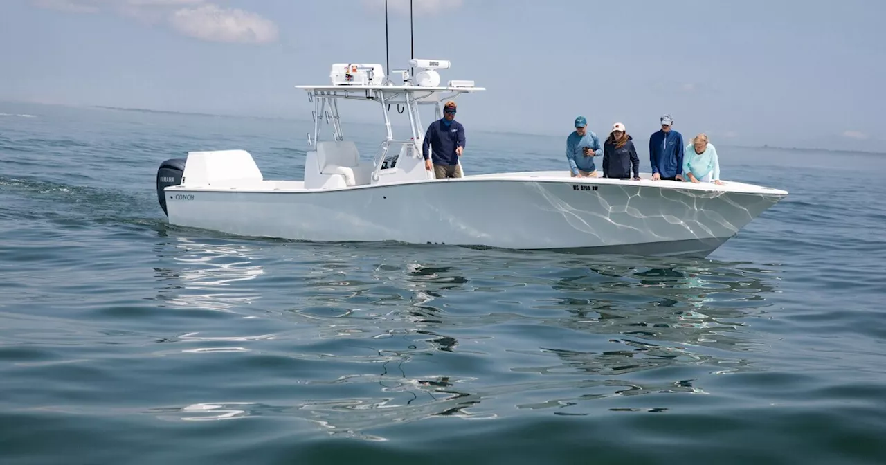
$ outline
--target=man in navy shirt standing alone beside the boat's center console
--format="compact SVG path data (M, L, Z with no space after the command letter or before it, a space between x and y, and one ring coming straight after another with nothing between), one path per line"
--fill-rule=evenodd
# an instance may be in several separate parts
M462 166L458 158L462 156L462 151L464 127L455 120L455 102L450 100L443 106L443 118L432 122L424 134L424 169L431 171L432 164L435 178L460 178Z

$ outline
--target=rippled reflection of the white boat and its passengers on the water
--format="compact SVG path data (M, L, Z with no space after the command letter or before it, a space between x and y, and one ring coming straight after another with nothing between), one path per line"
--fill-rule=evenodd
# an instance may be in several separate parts
M301 368L279 375L291 384L276 402L206 399L152 412L189 421L283 415L369 440L441 416L667 411L674 398L661 396L706 394L710 376L761 369L755 359L767 342L751 327L778 281L776 269L715 260L178 244L178 268L158 275L167 302L253 315L276 329L237 343L249 352L214 356L231 357L243 376L256 353Z

